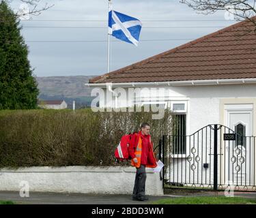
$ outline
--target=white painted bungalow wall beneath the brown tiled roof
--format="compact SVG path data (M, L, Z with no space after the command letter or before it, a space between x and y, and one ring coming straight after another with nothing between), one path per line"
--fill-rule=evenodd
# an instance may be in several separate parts
M149 87L150 88L150 87ZM256 84L218 84L218 85L197 85L197 86L173 86L173 87L158 87L164 88L164 91L160 95L156 95L154 91L150 89L144 89L139 93L137 99L141 99L141 102L148 101L160 101L167 102L168 105L171 105L171 102L177 101L186 101L188 104L188 110L186 112L186 135L194 134L197 130L209 124L223 124L221 123L221 114L220 114L220 102L221 99L245 99L253 98L256 99ZM141 88L142 89L142 88ZM118 91L119 89L114 89L113 91ZM128 93L128 88L125 89ZM105 89L106 91L106 89ZM106 93L105 93L106 94ZM127 94L128 95L128 94ZM128 96L122 95L117 98L117 107L127 107L132 106L134 102L128 101ZM113 97L114 99L114 97ZM136 99L136 98L135 98ZM132 99L135 101L135 99ZM104 101L105 100L105 101ZM100 99L100 106L106 107L110 106L111 102L106 102L106 99ZM114 104L113 104L114 105ZM255 108L253 108L255 110ZM224 113L221 112L221 113ZM252 121L255 126L255 118ZM255 131L255 130L254 130ZM154 133L152 133L154 134ZM209 137L209 136L208 136ZM196 143L195 143L196 144ZM200 146L201 147L201 146ZM201 148L199 147L199 152ZM210 148L207 147L208 153L210 153ZM190 155L189 148L187 146L187 153L184 155L183 159L174 158L171 159L171 169L167 168L167 176L170 181L175 183L184 183L184 178L188 179L188 176L191 178L191 183L193 183L194 178L195 182L197 181L197 176L205 178L205 172L209 172L209 169L203 169L203 163L213 163L212 156L209 157L206 161L201 160L199 166L200 174L197 175L197 172L190 171L190 163L186 161L186 157ZM210 161L210 158L212 161ZM174 164L173 164L174 163ZM212 165L212 164L211 164ZM183 166L183 172L181 170ZM186 175L185 168L186 166ZM211 166L213 168L213 166ZM253 166L252 166L253 167ZM256 166L255 166L256 167ZM175 174L173 175L173 168L175 168ZM182 173L181 173L182 172ZM191 174L188 174L188 173ZM202 174L201 174L202 173ZM213 175L209 176L208 174L205 178L206 183L213 183ZM200 181L200 180L199 180Z

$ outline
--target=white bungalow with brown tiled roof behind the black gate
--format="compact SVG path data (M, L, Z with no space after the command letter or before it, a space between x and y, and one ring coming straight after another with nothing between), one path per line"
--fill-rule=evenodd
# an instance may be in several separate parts
M162 138L163 146L171 145L164 159L168 185L255 190L255 82L255 26L242 21L87 85L105 94L140 88L132 101L114 95L115 107L157 102L177 114L179 136ZM100 97L100 107L109 104Z

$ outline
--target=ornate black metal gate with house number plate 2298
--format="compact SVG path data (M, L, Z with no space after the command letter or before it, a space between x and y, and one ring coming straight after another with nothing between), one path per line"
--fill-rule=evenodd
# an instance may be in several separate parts
M256 136L238 130L210 124L190 136L162 136L163 187L256 191Z

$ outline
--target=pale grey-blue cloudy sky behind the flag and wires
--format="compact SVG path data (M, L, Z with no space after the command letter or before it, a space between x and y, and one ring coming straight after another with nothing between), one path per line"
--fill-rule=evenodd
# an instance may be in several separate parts
M179 0L112 0L141 20L139 46L111 37L111 71L236 23L225 12L203 15ZM18 10L20 1L12 2ZM107 0L42 0L51 9L21 20L34 76L96 76L107 71ZM89 42L88 42L89 41ZM93 42L91 42L93 41ZM99 42L100 41L100 42Z

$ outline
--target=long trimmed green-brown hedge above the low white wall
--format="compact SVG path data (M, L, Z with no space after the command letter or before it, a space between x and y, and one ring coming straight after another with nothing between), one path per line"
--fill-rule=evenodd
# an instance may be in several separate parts
M151 125L154 147L171 128L171 112L152 120L152 112L1 110L0 168L23 166L114 166L123 134Z

